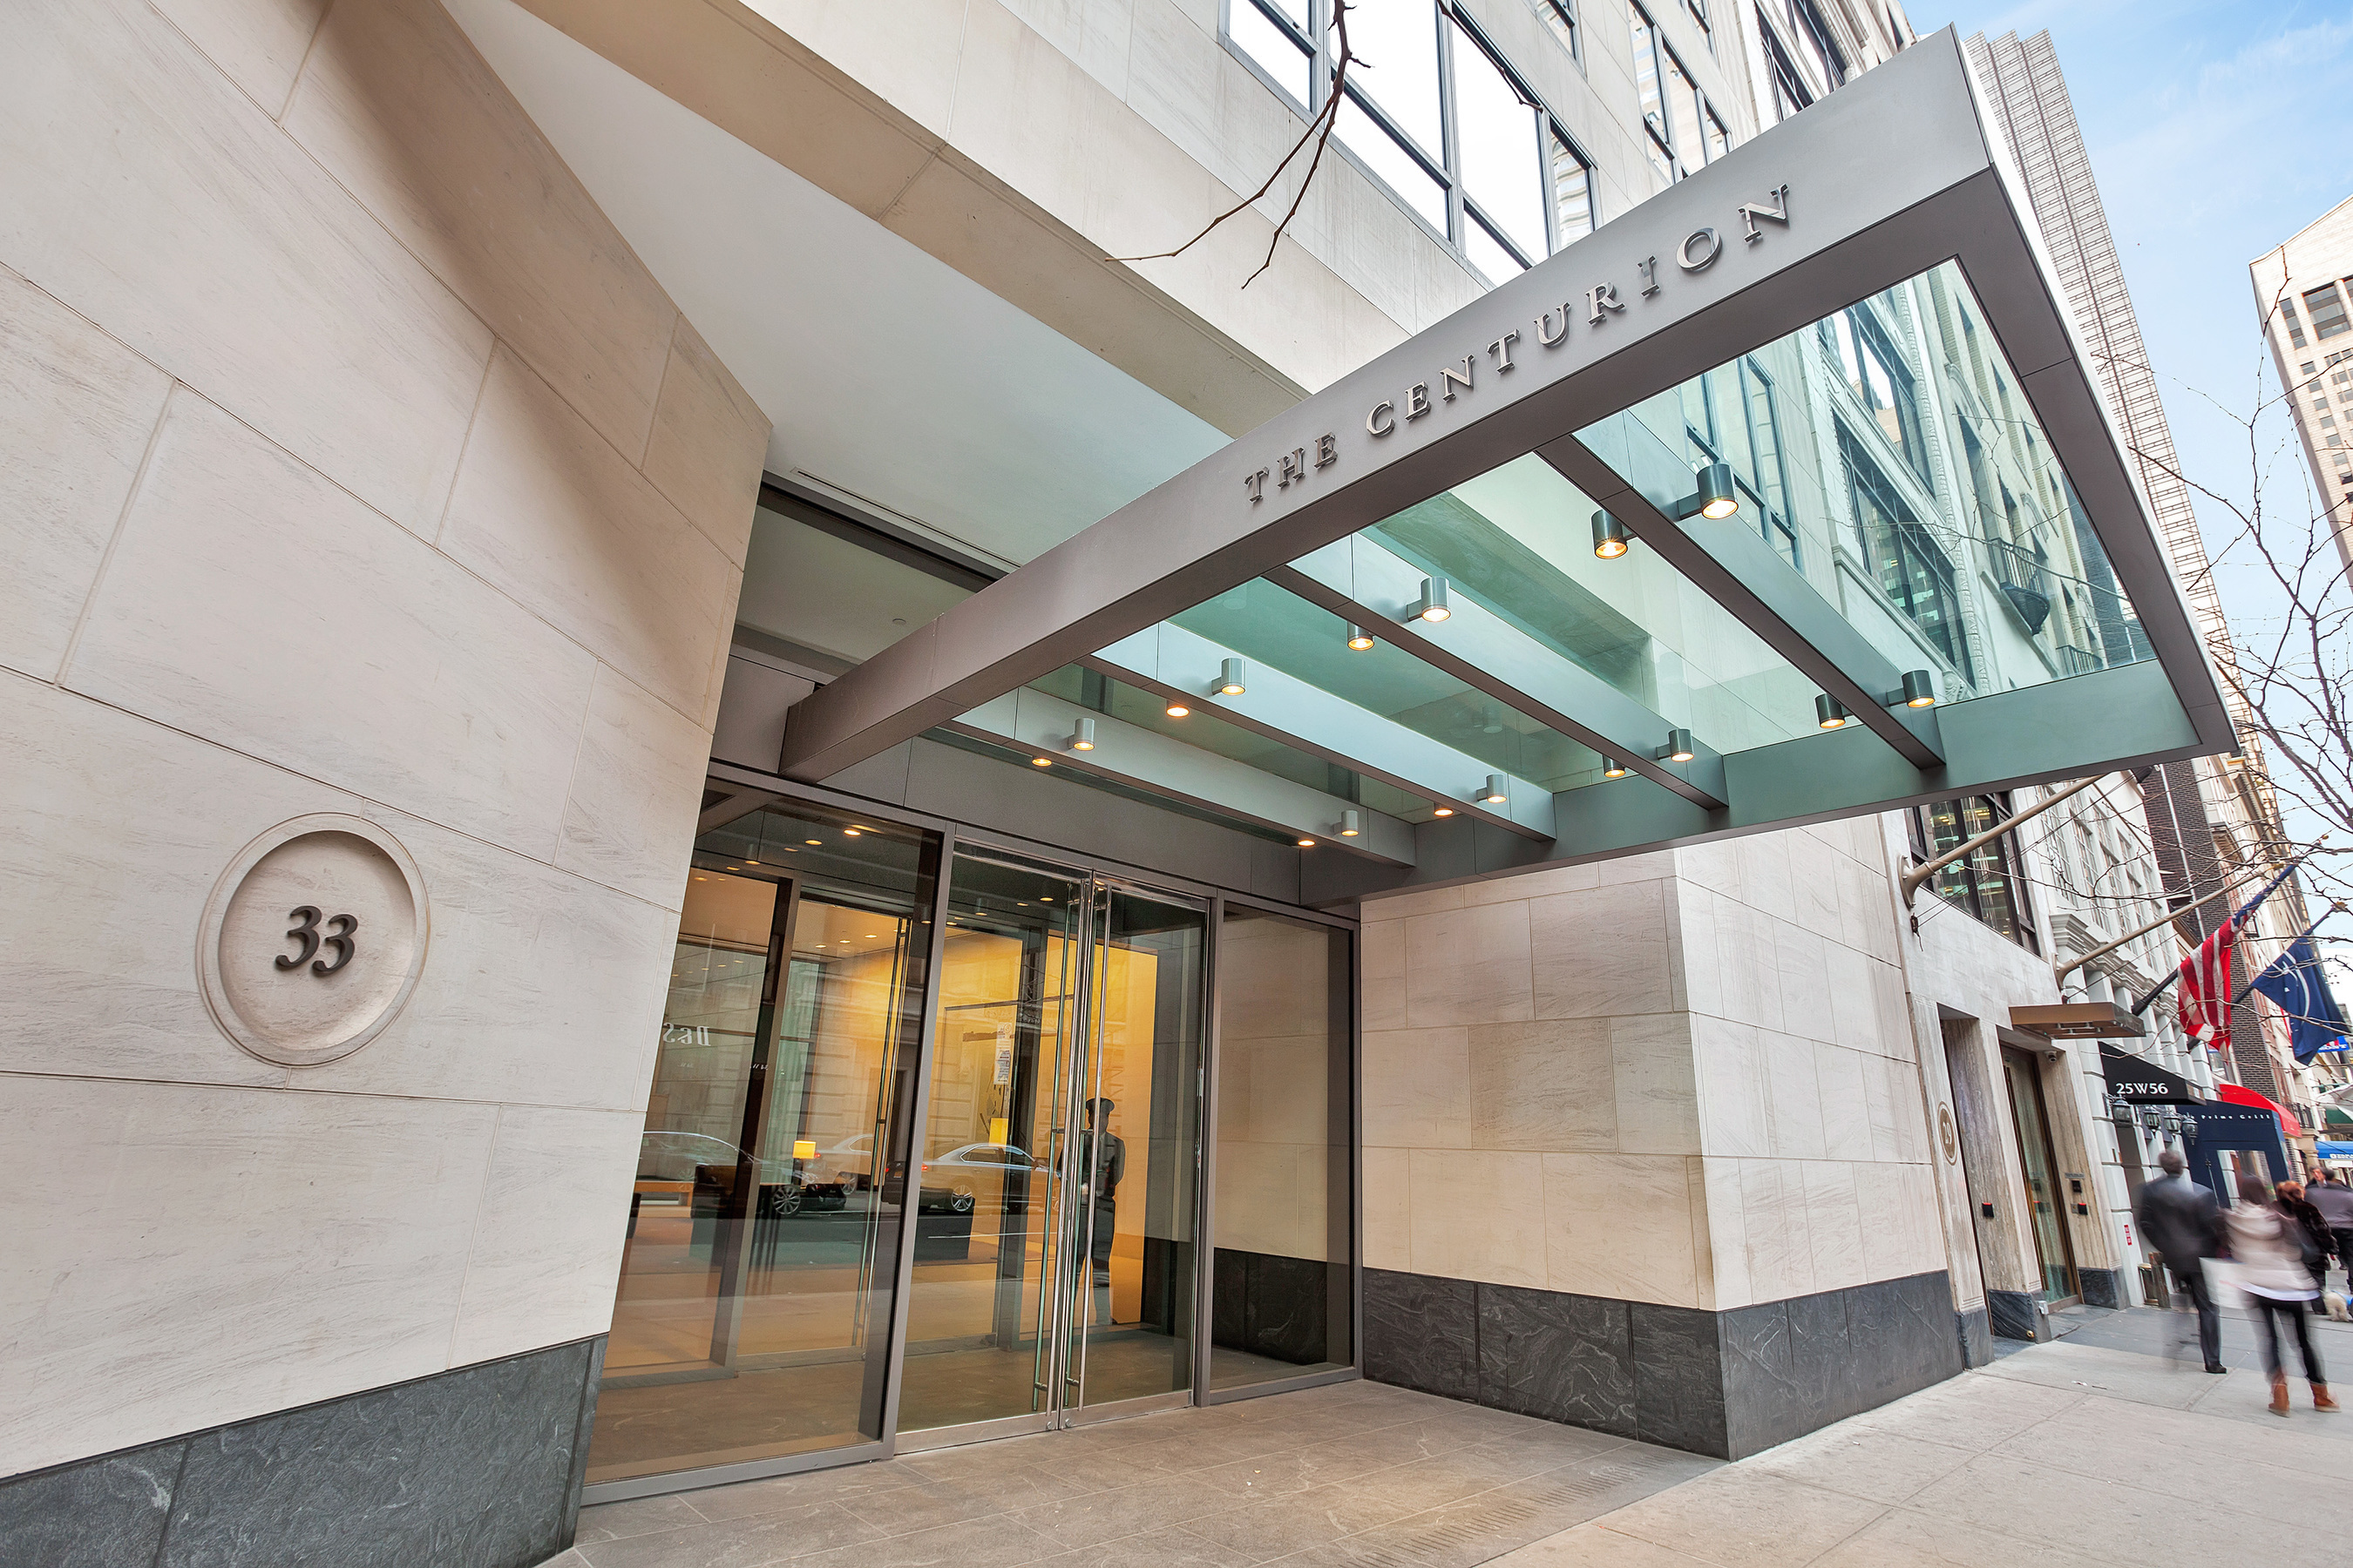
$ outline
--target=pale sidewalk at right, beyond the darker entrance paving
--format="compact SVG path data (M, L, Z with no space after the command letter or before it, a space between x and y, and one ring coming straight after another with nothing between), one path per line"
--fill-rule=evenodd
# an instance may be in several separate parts
M2353 1415L2266 1410L2245 1314L2228 1375L2172 1314L2113 1312L2054 1345L1682 1481L1492 1559L1497 1568L2094 1568L2320 1552L2353 1526ZM2313 1321L2353 1380L2353 1326ZM2297 1371L2287 1352L2289 1373Z

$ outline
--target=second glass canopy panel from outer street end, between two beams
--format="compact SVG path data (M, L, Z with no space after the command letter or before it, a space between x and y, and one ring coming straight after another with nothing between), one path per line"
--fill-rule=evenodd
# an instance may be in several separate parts
M1600 559L1595 510L1544 458L1520 456L1360 538L1659 715L1661 733L1675 724L1718 752L1812 733L1814 684L1659 555Z

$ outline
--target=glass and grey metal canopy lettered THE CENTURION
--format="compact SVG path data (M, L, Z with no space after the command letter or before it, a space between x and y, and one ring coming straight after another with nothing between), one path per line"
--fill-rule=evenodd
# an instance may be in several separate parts
M1214 811L1318 886L2228 750L1951 33L791 715Z

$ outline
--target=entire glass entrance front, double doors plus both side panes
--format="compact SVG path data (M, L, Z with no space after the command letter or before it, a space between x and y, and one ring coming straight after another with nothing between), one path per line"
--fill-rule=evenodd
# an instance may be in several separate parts
M948 872L941 898L939 835L814 804L696 842L588 1458L605 1497L1351 1366L1353 936L969 844Z

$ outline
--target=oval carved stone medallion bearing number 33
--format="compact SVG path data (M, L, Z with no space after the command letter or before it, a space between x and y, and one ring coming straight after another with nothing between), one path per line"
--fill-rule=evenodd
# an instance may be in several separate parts
M416 990L426 884L400 842L358 816L296 816L238 851L205 903L205 1006L266 1063L351 1056Z

